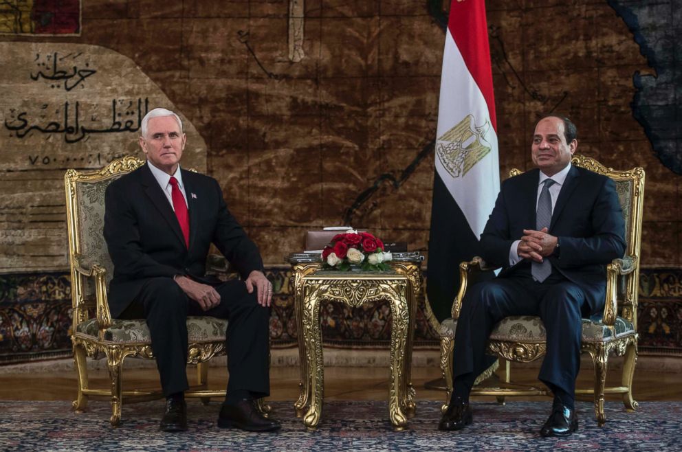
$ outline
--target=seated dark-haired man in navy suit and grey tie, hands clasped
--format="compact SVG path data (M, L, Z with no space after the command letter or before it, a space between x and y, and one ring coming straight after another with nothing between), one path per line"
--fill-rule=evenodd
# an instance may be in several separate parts
M571 166L576 137L568 118L543 117L531 146L538 169L502 184L481 248L483 259L503 270L464 297L454 337L454 387L441 430L472 422L469 394L485 370L485 343L510 315L539 315L547 330L538 378L554 401L540 434L566 436L577 429L581 319L603 311L606 264L623 256L626 243L613 181Z

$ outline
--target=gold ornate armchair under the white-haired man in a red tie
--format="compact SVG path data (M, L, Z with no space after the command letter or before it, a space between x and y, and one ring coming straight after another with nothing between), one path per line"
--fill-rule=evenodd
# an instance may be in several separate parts
M102 170L68 170L64 177L72 281L71 339L78 372L78 396L73 407L80 413L86 409L89 396L109 396L110 421L114 426L120 422L124 396L146 396L145 399L162 396L160 391L122 390L124 360L128 357L153 359L151 338L144 319L112 319L107 303L113 263L102 232L104 191L111 181L143 163L135 157L123 157ZM208 390L206 361L225 354L227 325L227 320L214 317L188 317L188 362L197 365L197 385L190 388L186 396L200 397L204 403L211 397L225 396L224 390ZM89 387L87 357L106 357L111 377L109 388Z

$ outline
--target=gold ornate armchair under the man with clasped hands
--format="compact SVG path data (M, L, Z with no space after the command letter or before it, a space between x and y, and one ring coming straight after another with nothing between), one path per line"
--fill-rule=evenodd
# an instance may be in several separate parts
M641 246L642 203L644 196L644 170L632 168L617 171L605 168L589 157L576 155L571 160L575 166L606 174L613 179L623 210L626 226L626 254L606 267L606 305L599 319L582 320L582 351L587 352L594 363L593 388L578 388L576 394L593 394L595 415L599 426L604 425L604 394L622 394L628 411L637 409L632 399L632 375L637 362L637 291L639 289L639 257ZM513 169L510 176L521 171ZM445 377L446 404L452 392L452 350L454 330L461 308L461 300L467 289L467 280L475 271L485 269L481 258L462 262L459 266L461 286L452 304L452 318L440 325L441 370ZM488 352L505 360L503 382L498 387L474 387L472 395L496 396L503 402L505 396L544 395L547 390L536 387L511 385L509 361L528 363L544 355L546 332L540 317L515 316L500 321L488 341ZM609 354L624 356L623 373L619 386L606 387L606 364ZM447 405L443 405L443 410Z

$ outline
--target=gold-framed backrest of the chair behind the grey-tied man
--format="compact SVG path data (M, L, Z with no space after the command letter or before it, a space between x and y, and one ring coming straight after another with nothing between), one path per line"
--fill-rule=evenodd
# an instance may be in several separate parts
M637 295L639 291L639 258L641 249L641 222L644 201L644 170L640 167L631 170L614 170L606 168L591 157L574 155L571 163L580 168L586 168L598 174L604 174L613 180L618 193L618 200L623 211L625 221L625 239L627 242L626 256L632 258L635 270L624 275L618 284L618 303L621 317L625 317L637 328ZM517 176L522 171L512 168L509 177Z

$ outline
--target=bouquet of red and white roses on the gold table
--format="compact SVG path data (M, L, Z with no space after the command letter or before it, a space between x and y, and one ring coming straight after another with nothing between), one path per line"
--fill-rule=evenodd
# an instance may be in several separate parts
M384 242L369 232L348 231L336 234L329 245L322 250L324 267L347 271L351 265L363 270L386 271L390 267L386 262L393 258L391 253L384 252Z

